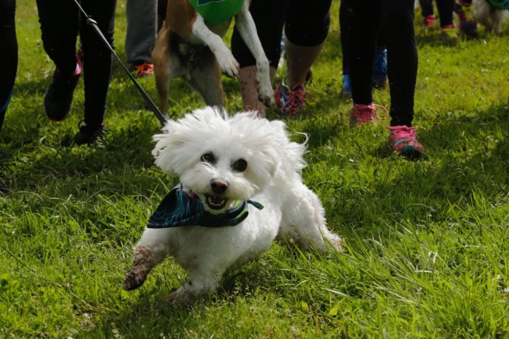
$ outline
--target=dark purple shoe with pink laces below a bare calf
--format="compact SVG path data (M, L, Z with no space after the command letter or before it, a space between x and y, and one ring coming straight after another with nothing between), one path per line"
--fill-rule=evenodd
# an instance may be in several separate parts
M298 83L291 89L281 81L274 91L276 106L280 117L296 117L304 108L304 104L311 100L311 93L304 88L303 83Z

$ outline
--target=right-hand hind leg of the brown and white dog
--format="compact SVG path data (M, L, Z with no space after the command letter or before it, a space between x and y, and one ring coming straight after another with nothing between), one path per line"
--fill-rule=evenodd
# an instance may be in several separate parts
M187 82L200 93L208 106L224 106L221 69L210 49L206 48L200 54L189 75L190 79Z

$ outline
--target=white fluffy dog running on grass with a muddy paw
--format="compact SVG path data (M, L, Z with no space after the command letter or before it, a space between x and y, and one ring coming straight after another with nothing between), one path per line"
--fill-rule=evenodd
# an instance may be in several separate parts
M154 136L155 163L179 176L181 186L172 190L177 196L170 199L168 194L161 202L158 211L167 214L158 220L173 222L177 211L184 213L180 219L192 221L150 228L154 213L134 249L124 289L141 286L167 255L189 273L189 282L171 295L182 301L214 291L225 272L268 250L276 237L292 240L303 250L326 252L332 248L327 242L341 249L341 238L327 229L319 198L302 182L305 145L289 140L283 122L257 118L253 112L228 116L207 107L168 121L163 131ZM167 199L173 202L166 204ZM175 200L181 205L164 207ZM239 204L242 221L232 226L235 223L224 218ZM196 221L196 206L207 221ZM202 226L211 220L222 225Z

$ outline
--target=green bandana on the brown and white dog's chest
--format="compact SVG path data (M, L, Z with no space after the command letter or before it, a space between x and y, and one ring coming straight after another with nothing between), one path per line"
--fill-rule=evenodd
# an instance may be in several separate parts
M189 0L189 3L207 22L215 26L239 13L244 0Z

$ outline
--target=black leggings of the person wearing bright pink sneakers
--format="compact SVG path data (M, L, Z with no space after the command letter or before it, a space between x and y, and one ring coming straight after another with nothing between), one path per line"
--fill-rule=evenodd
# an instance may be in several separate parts
M387 45L391 126L411 126L413 119L417 46L413 0L343 0L340 25L350 67L355 104L370 105L371 71L377 38L383 25Z

